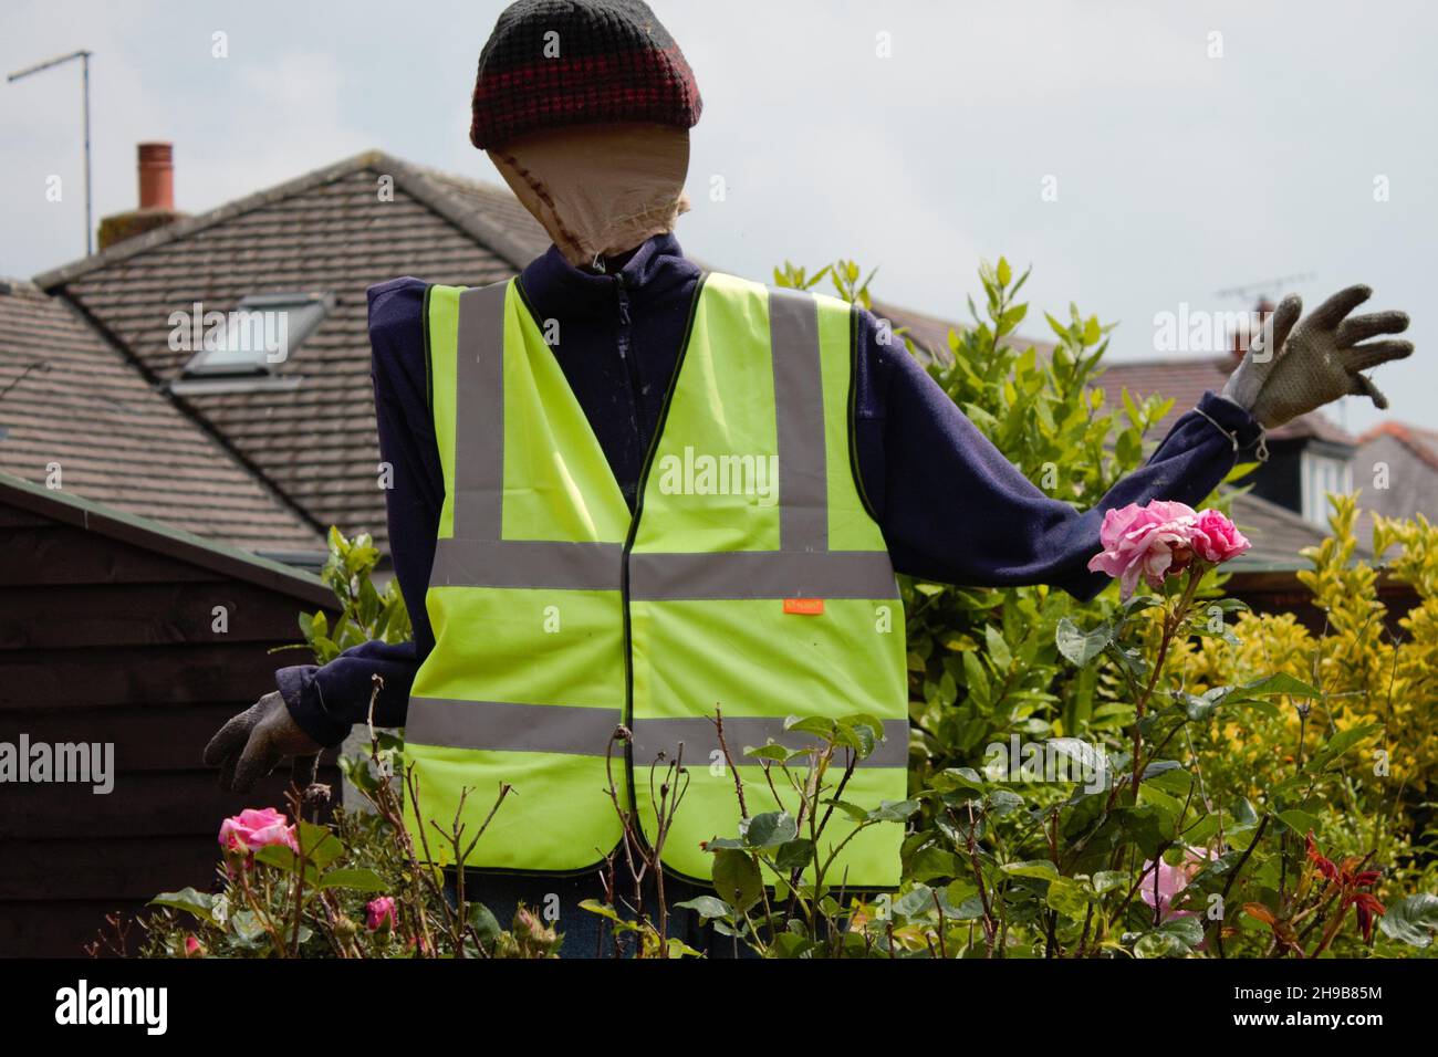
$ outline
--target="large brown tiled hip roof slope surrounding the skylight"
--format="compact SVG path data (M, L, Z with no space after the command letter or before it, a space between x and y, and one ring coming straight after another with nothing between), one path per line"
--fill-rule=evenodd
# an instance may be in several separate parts
M393 194L381 193L387 177ZM365 288L403 275L489 283L548 244L508 190L371 151L36 282L81 306L160 383L177 380L190 357L170 348L171 312L194 302L229 312L257 293L329 293L324 324L276 371L296 385L181 398L318 523L372 532L387 549Z

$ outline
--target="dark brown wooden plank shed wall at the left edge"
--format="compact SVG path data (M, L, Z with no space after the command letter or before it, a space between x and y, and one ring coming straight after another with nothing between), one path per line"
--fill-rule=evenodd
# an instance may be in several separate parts
M0 956L79 955L106 913L209 889L220 820L283 810L288 774L230 795L200 754L275 689L276 667L308 660L267 650L299 640L296 614L316 605L173 557L157 539L127 544L0 500L0 742L115 746L106 795L0 784Z

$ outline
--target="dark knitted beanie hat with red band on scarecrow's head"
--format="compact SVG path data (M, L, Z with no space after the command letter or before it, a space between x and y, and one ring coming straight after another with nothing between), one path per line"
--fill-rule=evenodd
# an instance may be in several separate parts
M479 55L469 139L646 121L693 128L703 101L684 53L643 0L519 0Z

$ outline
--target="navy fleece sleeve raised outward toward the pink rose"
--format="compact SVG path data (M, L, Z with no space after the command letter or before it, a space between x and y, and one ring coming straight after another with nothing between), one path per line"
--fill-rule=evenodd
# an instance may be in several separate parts
M1104 511L1198 503L1235 462L1232 440L1189 411L1145 466L1078 512L1020 473L903 342L880 344L869 312L857 341L858 473L900 572L972 587L1053 584L1089 598L1109 582L1086 568L1102 549ZM1208 393L1199 407L1241 446L1257 441L1257 423L1237 404Z

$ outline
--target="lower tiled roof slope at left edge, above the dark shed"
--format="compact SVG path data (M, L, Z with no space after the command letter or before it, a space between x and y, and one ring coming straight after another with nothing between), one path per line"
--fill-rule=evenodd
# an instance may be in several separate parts
M250 551L318 552L319 532L155 390L70 305L0 285L0 470Z

